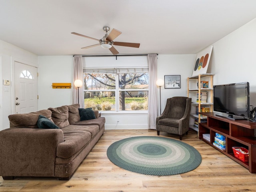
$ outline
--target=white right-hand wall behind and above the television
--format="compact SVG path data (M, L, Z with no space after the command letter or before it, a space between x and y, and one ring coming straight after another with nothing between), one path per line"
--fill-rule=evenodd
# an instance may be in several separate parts
M213 44L213 84L250 83L250 105L256 106L256 19Z

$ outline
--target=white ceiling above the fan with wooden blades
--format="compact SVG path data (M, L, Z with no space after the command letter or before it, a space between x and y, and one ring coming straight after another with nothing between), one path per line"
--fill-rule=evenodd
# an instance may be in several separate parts
M196 54L256 18L256 0L0 0L0 40L37 55L111 54L103 26L122 34L120 54Z

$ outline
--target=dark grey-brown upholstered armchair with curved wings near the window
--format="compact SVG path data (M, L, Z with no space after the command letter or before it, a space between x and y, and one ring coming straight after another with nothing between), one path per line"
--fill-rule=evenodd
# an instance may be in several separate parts
M157 135L160 131L178 134L180 140L184 133L188 134L188 123L191 109L191 98L168 98L164 112L156 118Z

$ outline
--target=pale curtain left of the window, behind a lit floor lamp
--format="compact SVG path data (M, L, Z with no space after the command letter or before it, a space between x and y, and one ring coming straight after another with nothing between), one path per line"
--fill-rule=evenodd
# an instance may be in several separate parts
M83 74L84 60L82 56L74 56L74 78L73 78L73 104L80 104L80 108L84 108L84 74ZM74 81L80 79L83 85L79 88L79 101L78 101L78 88L74 86Z

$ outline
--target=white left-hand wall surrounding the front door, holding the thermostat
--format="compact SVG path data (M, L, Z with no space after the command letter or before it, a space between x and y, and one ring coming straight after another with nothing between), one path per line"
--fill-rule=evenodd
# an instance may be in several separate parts
M9 128L8 115L14 113L14 61L38 67L37 55L0 40L0 130ZM3 85L4 80L11 85Z

